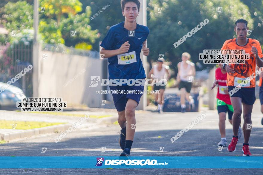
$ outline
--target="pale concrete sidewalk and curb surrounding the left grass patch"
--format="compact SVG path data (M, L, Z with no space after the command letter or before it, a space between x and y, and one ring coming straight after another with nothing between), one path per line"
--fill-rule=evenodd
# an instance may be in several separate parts
M109 111L67 111L67 114L81 114L83 117L86 114L89 115L116 115L116 113ZM54 125L42 128L34 129L0 129L0 140L12 140L23 137L30 137L38 134L47 134L53 132L63 132L76 123L81 117L76 116L65 116L65 115L54 115L54 114L41 114L41 113L30 113L30 112L19 112L19 111L0 111L0 120L14 120L14 121L35 121L35 122L48 122L48 123L65 123L61 125ZM116 116L114 117L105 117L105 118L89 118L88 123L84 122L83 126L90 126L100 123L113 123L117 120ZM82 127L83 127L82 126Z

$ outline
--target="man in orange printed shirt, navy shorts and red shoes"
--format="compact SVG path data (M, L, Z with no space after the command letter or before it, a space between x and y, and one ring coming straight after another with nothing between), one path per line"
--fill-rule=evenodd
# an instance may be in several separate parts
M255 75L256 65L259 67L263 66L262 61L262 49L259 41L251 38L247 38L247 21L244 19L238 19L235 22L234 28L237 38L233 38L224 42L222 49L243 49L246 53L250 54L250 59L245 61L245 64L230 64L224 65L227 70L227 86L228 92L233 92L232 90L238 86L239 82L244 82L249 76ZM243 133L244 133L244 143L242 147L243 156L251 156L248 148L248 140L250 137L250 132L252 127L249 124L251 122L251 113L253 104L255 103L255 77L241 87L233 95L230 92L230 99L232 106L234 108L233 114L233 138L231 143L228 145L227 151L236 151L236 144L238 143L238 128L241 123L241 113L243 105ZM242 104L242 105L241 105ZM248 124L248 125L247 125ZM250 128L250 129L247 129Z

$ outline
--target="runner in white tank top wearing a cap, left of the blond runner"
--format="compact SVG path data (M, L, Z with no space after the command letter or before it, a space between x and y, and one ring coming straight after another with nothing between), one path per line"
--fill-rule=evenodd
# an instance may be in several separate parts
M168 69L166 69L166 66L163 64L164 59L163 58L159 58L157 60L157 64L152 66L152 69L150 70L148 77L153 78L154 79L158 79L159 82L161 79L169 79L170 78L170 74L168 72ZM168 77L167 77L168 76ZM165 90L165 86L160 86L160 85L153 85L153 90L154 91L159 91L160 93L156 93L155 94L155 105L157 106L161 101L164 100L164 90ZM163 105L159 104L158 105L158 112L159 111L163 111Z

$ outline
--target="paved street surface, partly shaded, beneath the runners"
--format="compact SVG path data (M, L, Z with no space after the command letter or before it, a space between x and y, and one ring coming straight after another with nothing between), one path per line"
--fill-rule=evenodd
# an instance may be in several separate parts
M80 113L88 111L80 111ZM205 118L174 143L170 138L188 126L201 114ZM116 115L116 113L115 113ZM252 156L263 156L262 114L257 100L252 113L253 131L250 137ZM68 117L67 120L78 120ZM120 127L115 124L103 125L83 123L67 134L60 142L54 138L60 133L38 135L10 140L0 145L0 156L118 156ZM218 151L220 141L217 111L192 113L152 113L140 111L136 114L136 133L131 156L242 156L243 135L236 152L227 148ZM227 143L232 137L232 126L226 121ZM243 123L243 119L242 119ZM242 124L241 123L241 124ZM42 147L47 151L41 153ZM101 147L106 151L101 153ZM159 152L164 147L163 152ZM247 158L247 157L244 157ZM83 162L85 163L85 162ZM262 169L1 169L0 174L262 174Z

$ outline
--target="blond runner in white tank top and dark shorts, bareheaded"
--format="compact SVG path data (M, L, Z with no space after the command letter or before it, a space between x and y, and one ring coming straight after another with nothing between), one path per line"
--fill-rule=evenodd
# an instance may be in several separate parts
M184 52L182 54L182 61L177 64L178 74L176 80L179 82L179 90L181 92L181 112L186 111L185 98L189 102L189 108L194 107L194 101L190 96L190 91L192 88L192 81L195 76L195 66L193 63L188 61L190 58L191 55Z

